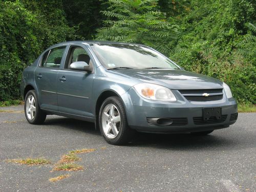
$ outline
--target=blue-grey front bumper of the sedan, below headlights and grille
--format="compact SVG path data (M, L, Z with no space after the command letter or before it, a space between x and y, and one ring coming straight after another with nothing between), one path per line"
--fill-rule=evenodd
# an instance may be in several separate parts
M129 126L140 132L190 133L222 129L236 122L237 102L234 98L227 99L225 93L221 100L203 102L188 101L176 90L173 93L177 98L175 102L144 99L133 88L124 93L121 97ZM200 120L203 108L214 107L221 107L221 120ZM150 118L178 119L178 123L159 126L149 123Z

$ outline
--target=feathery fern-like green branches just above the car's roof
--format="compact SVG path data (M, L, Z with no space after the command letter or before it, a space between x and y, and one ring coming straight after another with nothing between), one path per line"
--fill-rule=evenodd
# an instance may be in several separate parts
M105 27L100 28L97 39L144 44L163 53L170 51L177 37L178 26L157 9L156 0L108 0L108 9L102 14Z

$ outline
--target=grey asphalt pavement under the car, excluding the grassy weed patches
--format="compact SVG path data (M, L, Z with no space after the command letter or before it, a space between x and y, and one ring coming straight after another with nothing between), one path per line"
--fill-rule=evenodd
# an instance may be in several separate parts
M208 136L138 134L126 146L106 143L94 124L48 116L29 124L23 106L0 108L0 191L256 191L256 113L239 114ZM50 172L71 150L83 171ZM6 159L44 157L28 166ZM56 183L49 178L70 174Z

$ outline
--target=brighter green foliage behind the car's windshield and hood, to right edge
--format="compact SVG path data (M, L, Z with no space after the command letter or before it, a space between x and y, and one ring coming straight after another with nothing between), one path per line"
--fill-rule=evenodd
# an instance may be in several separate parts
M255 103L252 1L108 0L106 4L109 8L102 13L108 19L98 30L98 39L153 47L188 71L225 81L240 103Z

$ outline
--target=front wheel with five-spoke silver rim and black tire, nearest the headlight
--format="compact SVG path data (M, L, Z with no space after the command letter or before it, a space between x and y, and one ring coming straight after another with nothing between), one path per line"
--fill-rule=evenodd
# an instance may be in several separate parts
M125 144L132 138L135 131L127 124L124 106L119 97L109 97L103 101L99 111L99 129L110 144Z

